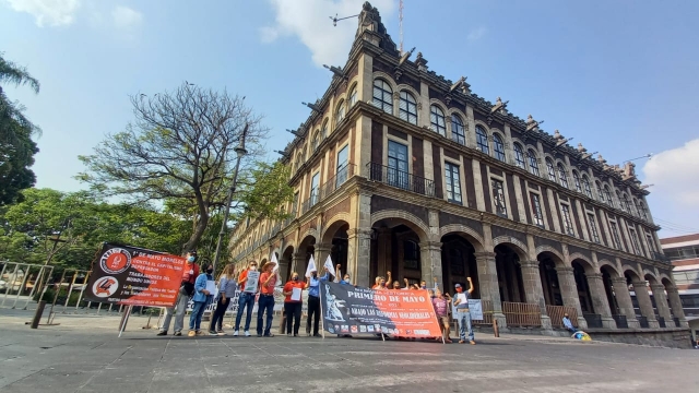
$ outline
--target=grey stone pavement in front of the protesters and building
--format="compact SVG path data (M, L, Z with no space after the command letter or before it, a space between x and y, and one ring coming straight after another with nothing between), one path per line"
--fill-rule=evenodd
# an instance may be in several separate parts
M697 392L699 350L478 335L476 346L377 338L156 337L132 318L0 310L0 392ZM301 327L303 330L303 327Z

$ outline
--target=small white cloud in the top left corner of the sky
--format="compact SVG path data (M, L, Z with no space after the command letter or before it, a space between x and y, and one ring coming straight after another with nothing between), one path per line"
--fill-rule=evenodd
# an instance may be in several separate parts
M26 12L34 16L36 25L67 26L75 21L75 13L81 0L4 0L17 12Z

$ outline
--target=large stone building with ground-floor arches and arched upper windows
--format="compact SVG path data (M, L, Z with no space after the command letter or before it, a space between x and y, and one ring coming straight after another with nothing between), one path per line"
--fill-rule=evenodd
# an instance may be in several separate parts
M347 62L284 151L292 217L238 225L229 251L241 266L275 252L283 279L310 255L363 286L389 271L448 290L470 276L478 322L500 326L550 329L564 312L583 329L673 314L686 325L632 164L593 158L412 53L365 3ZM657 314L637 290L637 315L629 288L647 282Z

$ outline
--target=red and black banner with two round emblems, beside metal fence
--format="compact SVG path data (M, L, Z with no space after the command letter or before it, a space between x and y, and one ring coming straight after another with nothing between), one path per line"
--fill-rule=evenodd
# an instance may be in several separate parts
M105 243L85 290L90 301L171 307L177 301L185 259L129 246Z

